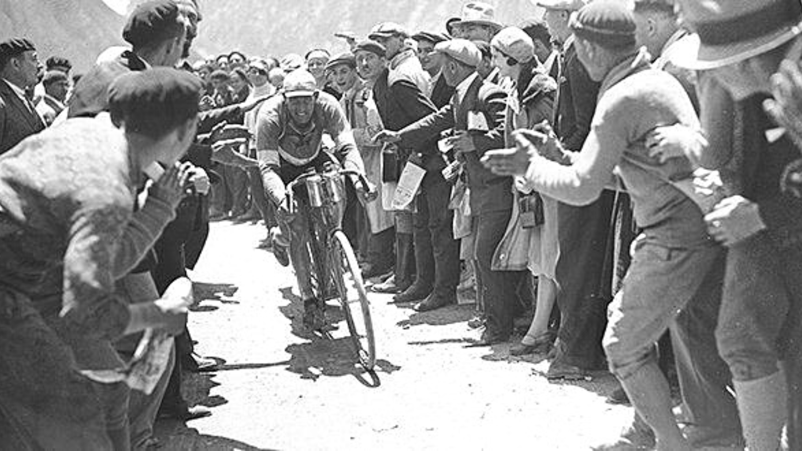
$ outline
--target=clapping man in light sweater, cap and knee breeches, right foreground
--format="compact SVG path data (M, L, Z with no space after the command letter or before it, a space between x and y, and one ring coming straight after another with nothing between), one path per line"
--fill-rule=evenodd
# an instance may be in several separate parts
M618 168L643 232L634 243L622 289L610 304L603 340L610 372L654 430L657 449L691 449L671 412L654 344L668 328L682 330L680 311L720 296L724 252L707 236L703 221L703 210L716 199L693 188L691 161L652 156L644 136L661 124L698 127L699 122L681 84L651 68L648 53L638 50L626 4L591 2L572 18L571 28L578 59L594 81L602 82L593 126L580 152L568 152L546 129L519 134L517 151L488 152L485 164L495 173L524 176L538 192L571 205L595 201ZM512 163L512 155L523 158ZM672 338L688 340L687 334Z

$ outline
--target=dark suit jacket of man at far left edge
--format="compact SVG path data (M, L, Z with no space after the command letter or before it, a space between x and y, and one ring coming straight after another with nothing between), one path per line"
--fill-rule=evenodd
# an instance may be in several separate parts
M42 118L22 103L5 80L0 80L0 155L44 129Z

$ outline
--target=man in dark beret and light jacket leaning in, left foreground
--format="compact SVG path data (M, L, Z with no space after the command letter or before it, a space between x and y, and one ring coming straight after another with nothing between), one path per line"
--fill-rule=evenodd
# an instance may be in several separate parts
M0 367L18 370L0 375L0 423L12 425L0 448L128 449L128 386L79 371L124 366L112 347L122 335L184 327L188 281L134 304L115 280L152 245L150 233L125 233L144 169L166 167L151 206L172 215L184 195L177 160L195 134L199 91L173 69L123 75L111 114L67 120L0 156ZM152 221L139 225L158 235Z

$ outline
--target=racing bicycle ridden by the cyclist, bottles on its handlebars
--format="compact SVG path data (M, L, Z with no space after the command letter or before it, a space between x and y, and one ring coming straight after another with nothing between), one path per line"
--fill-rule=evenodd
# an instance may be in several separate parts
M333 164L324 166L319 172L310 168L287 185L287 205L290 209L297 209L295 189L306 188L310 207L307 221L310 239L306 247L312 267L312 290L322 302L338 299L359 363L371 370L376 363L376 347L370 301L354 250L340 227L338 206L345 201L343 177L348 175L358 177L365 189L370 186L363 174L354 170L337 169ZM353 294L346 279L351 282ZM359 303L361 315L354 315L353 303Z

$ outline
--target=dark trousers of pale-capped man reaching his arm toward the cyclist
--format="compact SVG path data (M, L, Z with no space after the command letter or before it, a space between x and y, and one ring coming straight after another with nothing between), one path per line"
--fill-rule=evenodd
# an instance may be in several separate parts
M494 271L491 269L493 254L496 252L504 231L507 230L512 210L480 213L477 221L474 246L476 262L481 274L481 287L484 290L484 313L487 315L488 334L508 337L512 334L512 321L521 310L518 287L524 282L529 271Z

